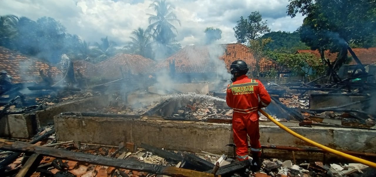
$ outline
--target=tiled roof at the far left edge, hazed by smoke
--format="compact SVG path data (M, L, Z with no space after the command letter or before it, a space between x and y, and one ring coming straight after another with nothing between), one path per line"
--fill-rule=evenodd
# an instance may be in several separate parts
M44 61L32 58L21 53L0 47L0 70L5 70L13 77L14 83L33 82L39 74L39 70L52 72L52 76L60 76L61 71Z

